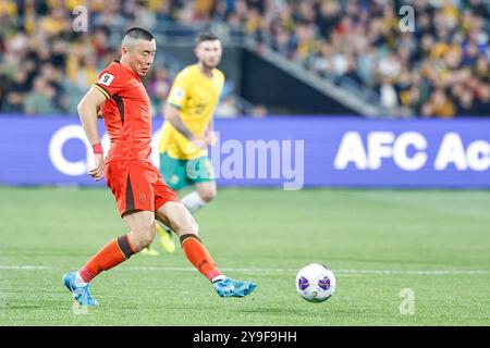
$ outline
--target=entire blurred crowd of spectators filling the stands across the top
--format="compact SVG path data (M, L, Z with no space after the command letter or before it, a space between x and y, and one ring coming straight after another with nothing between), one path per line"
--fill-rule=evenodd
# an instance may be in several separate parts
M81 4L88 33L73 29ZM414 32L399 27L404 4L415 9ZM212 24L335 84L373 90L396 114L490 115L487 0L0 0L0 112L74 114L118 58L125 28ZM157 105L172 77L157 62L146 80ZM220 110L240 112L232 96Z

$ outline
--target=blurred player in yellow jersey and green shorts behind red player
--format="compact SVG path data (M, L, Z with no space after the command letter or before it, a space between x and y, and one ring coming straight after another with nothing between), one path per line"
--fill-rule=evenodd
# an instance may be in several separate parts
M216 197L216 182L208 159L208 146L215 141L212 116L224 85L224 74L216 66L221 61L222 47L213 34L196 37L198 62L182 70L173 82L163 110L160 172L174 190L194 186L181 201L195 213ZM173 252L175 245L168 228L157 227L164 250ZM146 253L158 254L148 248Z

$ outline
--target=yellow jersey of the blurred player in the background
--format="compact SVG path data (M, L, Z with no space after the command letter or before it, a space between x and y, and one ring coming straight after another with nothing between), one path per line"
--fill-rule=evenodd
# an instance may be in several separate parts
M167 102L177 108L187 128L201 137L212 119L223 86L224 74L218 69L212 70L212 77L207 77L197 64L189 65L176 75ZM167 151L170 157L181 160L207 154L206 150L197 148L170 122L163 123L159 151Z

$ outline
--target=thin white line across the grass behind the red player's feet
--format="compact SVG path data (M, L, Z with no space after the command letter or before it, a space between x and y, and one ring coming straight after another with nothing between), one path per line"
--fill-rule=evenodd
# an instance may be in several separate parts
M16 271L32 271L32 270L52 270L56 268L46 265L1 265L0 271L16 270ZM73 268L76 269L76 268ZM154 272L196 272L193 268L170 268L170 266L122 266L114 269L117 271L154 271ZM260 268L222 268L224 272L244 272L244 273L296 273L297 269L260 269ZM471 274L490 274L490 270L333 270L335 274L340 275L363 275L363 274L378 274L378 275L471 275Z

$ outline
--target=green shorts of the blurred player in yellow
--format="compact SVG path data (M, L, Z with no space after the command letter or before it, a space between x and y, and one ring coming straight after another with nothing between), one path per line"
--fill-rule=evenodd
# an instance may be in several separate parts
M160 153L160 173L163 181L173 190L180 190L187 185L213 182L212 165L207 156L193 160L174 159Z

